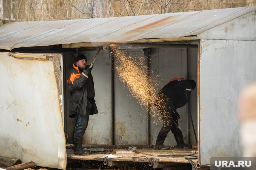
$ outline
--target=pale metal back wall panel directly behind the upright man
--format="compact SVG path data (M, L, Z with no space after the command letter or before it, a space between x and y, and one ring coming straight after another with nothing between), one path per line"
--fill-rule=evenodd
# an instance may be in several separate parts
M97 51L87 51L88 65ZM98 114L91 115L83 140L84 144L110 144L110 56L108 50L101 50L94 63L92 75Z

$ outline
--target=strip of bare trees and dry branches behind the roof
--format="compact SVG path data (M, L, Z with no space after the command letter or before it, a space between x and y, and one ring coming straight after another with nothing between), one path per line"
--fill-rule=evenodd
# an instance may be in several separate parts
M0 0L0 24L254 6L256 0Z

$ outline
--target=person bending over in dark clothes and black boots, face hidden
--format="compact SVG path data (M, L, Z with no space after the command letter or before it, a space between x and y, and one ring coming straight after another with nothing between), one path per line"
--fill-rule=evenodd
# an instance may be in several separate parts
M180 115L178 108L186 105L190 100L191 90L194 90L196 83L194 80L184 78L173 78L158 93L155 105L161 113L163 126L156 139L156 150L169 150L164 146L167 133L171 130L177 142L176 148L191 148L191 145L184 143L182 131L178 121Z

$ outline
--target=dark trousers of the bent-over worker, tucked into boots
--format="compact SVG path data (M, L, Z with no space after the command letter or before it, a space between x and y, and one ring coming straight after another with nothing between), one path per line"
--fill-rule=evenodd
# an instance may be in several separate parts
M162 115L163 126L157 136L156 145L160 145L164 143L164 140L170 130L173 134L181 132L181 129L179 129L179 123L178 123L180 119L180 115L174 106L171 106L168 109L168 111L165 111L165 112L163 110L159 110L159 111L161 112L161 115Z

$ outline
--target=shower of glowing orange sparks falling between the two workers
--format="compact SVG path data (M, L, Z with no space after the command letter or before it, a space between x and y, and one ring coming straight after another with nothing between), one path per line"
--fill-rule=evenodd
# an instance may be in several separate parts
M161 122L158 109L164 112L162 114L165 114L168 102L168 99L162 95L157 95L160 84L157 78L160 76L153 76L153 71L145 64L144 56L133 55L132 53L124 54L116 44L112 44L111 49L115 58L114 70L120 81L137 100L137 103L142 106L143 110L149 109L150 106L150 114L154 119L151 122L158 124Z

